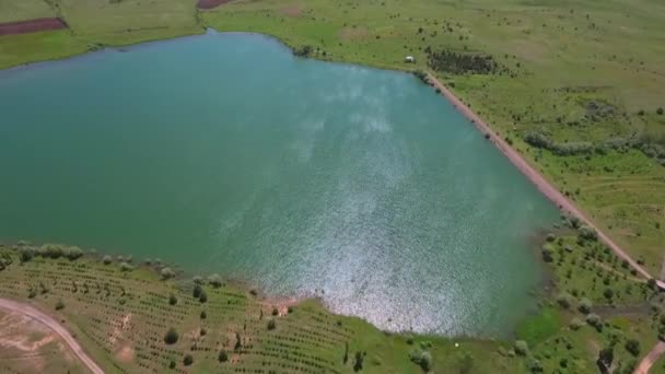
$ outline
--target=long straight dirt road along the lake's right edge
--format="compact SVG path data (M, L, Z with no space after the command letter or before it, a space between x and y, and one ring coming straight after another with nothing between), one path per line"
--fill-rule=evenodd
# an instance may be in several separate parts
M646 279L653 278L642 266L633 260L618 244L616 244L609 236L600 231L574 203L572 203L563 194L561 194L552 184L550 184L542 174L535 170L515 149L510 147L505 140L497 136L494 131L478 117L474 110L471 110L466 104L464 104L455 94L443 85L439 80L428 72L429 81L439 90L441 93L453 104L457 110L466 116L476 127L486 135L490 136L490 140L497 148L515 165L537 188L550 199L560 210L567 211L580 220L584 221L586 225L593 227L598 233L598 238L605 243L617 256L625 259ZM656 284L660 289L665 290L665 282L656 279Z

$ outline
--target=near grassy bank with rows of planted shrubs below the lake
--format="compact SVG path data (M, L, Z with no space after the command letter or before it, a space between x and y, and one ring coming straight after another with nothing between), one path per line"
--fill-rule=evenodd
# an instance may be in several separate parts
M665 334L664 296L582 231L548 235L541 255L541 307L506 341L384 332L315 300L61 245L0 246L0 296L62 320L108 373L595 373L608 351L631 373Z

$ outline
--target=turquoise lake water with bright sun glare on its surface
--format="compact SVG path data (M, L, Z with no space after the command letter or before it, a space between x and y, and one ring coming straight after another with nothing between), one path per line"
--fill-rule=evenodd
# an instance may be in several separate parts
M504 335L558 213L409 74L214 34L0 72L0 239L62 242L390 330ZM322 291L323 290L323 291Z

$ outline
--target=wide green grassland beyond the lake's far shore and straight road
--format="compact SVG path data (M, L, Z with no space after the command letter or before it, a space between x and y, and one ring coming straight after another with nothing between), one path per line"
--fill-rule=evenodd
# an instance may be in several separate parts
M189 0L46 3L2 2L3 22L60 16L70 30L0 37L0 68L212 26L273 35L311 47L314 58L433 71L652 274L661 272L665 7L655 1L241 0L209 11ZM416 63L405 63L407 55Z

